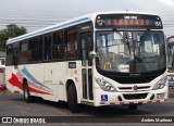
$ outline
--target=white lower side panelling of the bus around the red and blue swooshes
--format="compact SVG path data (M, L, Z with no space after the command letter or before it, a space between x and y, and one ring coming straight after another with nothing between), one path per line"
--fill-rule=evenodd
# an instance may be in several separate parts
M79 66L79 65L77 65ZM49 89L45 88L44 86L40 86L34 80L30 80L26 73L23 73L22 70L26 68L28 73L37 79L41 85L48 87ZM12 77L12 73L15 74L18 77L18 80L23 83L23 80L20 78L17 72L20 71L23 74L23 78L27 78L28 86L38 89L41 91L41 88L46 89L46 92L50 92L50 94L42 94L39 92L33 92L30 91L32 96L41 97L46 100L51 101L59 101L63 100L66 101L66 81L67 79L74 80L74 83L80 81L80 68L72 68L69 70L67 62L54 62L54 63L41 63L41 64L30 64L30 65L18 65L17 68L14 68L14 66L8 66L5 71L7 75L7 84L8 89L11 91L20 91L23 93L23 90L17 88L16 86L12 86L9 83L9 79ZM30 85L32 84L32 85ZM34 86L33 86L34 85ZM79 84L76 84L79 85ZM80 88L80 87L79 87Z

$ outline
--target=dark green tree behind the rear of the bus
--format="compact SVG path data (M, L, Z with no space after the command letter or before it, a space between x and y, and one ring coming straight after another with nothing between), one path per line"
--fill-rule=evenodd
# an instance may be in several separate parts
M23 26L18 27L15 24L8 25L7 28L0 30L0 50L5 50L5 42L8 39L24 35L26 33L27 30Z

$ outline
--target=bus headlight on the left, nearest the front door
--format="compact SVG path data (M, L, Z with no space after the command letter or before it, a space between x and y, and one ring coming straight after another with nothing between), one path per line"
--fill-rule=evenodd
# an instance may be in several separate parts
M101 87L104 91L116 91L115 88L104 79L96 78L96 83Z

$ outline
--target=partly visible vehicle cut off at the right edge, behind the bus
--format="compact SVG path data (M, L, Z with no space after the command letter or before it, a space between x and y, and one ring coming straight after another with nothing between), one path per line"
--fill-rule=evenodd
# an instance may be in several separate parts
M166 39L167 42L167 61L169 61L169 87L174 87L174 36Z

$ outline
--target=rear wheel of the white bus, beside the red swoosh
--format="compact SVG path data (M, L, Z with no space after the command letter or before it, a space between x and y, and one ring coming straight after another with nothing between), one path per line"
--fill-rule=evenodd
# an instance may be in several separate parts
M24 81L23 85L24 85L24 100L26 102L30 102L32 101L32 97L30 97L30 93L29 93L29 90L28 90L27 81Z

